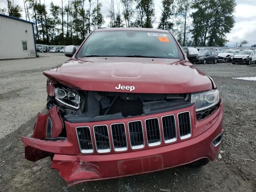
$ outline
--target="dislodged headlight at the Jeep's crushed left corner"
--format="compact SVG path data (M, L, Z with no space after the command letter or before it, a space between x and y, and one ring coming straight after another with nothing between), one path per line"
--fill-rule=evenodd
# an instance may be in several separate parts
M78 91L72 88L58 87L55 88L55 98L60 103L78 109L80 103L80 96Z

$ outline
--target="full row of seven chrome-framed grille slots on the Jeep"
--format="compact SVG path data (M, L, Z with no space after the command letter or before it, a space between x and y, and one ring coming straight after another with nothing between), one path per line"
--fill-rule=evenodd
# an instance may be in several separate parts
M190 112L182 112L177 115L178 130L180 139L189 138L192 134ZM164 143L171 143L177 140L176 120L173 114L162 116L162 134ZM144 127L145 126L145 127ZM148 146L157 146L161 144L161 130L159 119L146 119L144 125L141 120L128 122L128 133L130 147L132 149L141 149L145 146L144 129L146 131L146 140ZM116 123L110 125L112 144L116 152L128 150L126 124ZM96 125L92 128L94 142L98 153L107 153L111 151L110 135L107 125ZM92 143L92 134L89 126L76 127L76 134L80 151L82 153L94 152Z

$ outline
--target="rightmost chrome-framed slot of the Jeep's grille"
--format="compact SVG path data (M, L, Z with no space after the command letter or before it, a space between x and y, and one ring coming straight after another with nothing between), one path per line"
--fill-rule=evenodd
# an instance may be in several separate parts
M191 136L190 112L182 112L178 114L178 124L180 139L186 139Z

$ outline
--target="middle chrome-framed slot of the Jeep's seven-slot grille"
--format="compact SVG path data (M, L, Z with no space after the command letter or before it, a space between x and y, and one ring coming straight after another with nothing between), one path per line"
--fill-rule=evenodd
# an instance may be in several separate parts
M144 132L142 121L131 121L128 122L130 145L132 149L144 148Z

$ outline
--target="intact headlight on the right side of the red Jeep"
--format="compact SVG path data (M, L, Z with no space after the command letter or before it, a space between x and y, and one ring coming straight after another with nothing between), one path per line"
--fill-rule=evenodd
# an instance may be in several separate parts
M217 89L193 93L191 103L196 104L196 112L210 108L218 104L220 100L220 93Z

